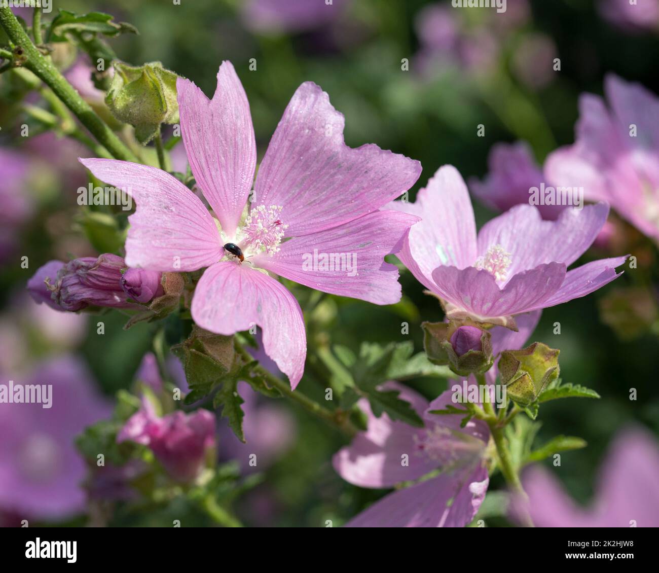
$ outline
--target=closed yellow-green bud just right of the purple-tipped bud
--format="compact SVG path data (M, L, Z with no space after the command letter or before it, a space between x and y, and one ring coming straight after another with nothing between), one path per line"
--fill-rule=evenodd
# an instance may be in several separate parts
M498 363L501 383L507 386L507 394L513 402L522 407L530 406L547 384L558 378L558 353L559 350L542 342L501 353Z

